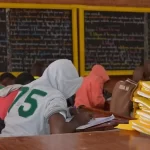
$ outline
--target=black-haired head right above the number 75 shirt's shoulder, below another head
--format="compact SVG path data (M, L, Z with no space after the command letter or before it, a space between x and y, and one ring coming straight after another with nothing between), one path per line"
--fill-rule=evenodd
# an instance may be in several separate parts
M34 77L30 74L30 73L21 73L17 78L15 83L16 84L22 84L22 85L26 85L30 82L34 81Z

